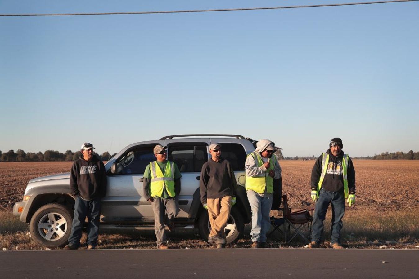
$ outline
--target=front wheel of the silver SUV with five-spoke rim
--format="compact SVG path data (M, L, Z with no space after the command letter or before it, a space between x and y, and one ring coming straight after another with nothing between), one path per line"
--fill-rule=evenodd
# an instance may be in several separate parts
M31 238L48 248L64 247L71 233L72 216L72 210L59 203L41 206L29 223Z

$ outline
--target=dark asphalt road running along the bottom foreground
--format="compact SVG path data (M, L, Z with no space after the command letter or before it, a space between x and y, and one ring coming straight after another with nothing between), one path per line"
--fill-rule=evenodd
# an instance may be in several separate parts
M419 250L0 252L0 278L419 278Z

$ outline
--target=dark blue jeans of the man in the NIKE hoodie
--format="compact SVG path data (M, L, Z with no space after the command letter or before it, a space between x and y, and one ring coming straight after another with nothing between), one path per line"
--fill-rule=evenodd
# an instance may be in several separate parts
M101 199L83 200L81 197L77 197L74 204L74 219L68 244L80 246L80 238L86 216L88 220L86 244L97 245L99 218L101 217Z

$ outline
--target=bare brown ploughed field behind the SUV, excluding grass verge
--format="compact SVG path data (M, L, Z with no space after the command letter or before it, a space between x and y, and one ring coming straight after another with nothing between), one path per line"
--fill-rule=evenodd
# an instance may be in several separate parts
M0 210L21 201L29 179L70 171L72 162L1 162ZM310 174L314 161L280 161L283 194L290 206L311 207ZM354 160L356 205L351 210L412 210L419 205L419 161Z

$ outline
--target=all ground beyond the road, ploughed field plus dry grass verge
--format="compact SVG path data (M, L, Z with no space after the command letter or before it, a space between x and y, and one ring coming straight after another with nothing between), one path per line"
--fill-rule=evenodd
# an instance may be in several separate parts
M0 162L0 251L45 249L31 241L28 225L14 217L11 209L21 201L29 179L68 172L72 162ZM280 161L283 194L293 210L313 207L310 174L314 161ZM419 248L419 161L354 160L357 175L356 205L347 207L342 238L347 248ZM274 213L274 212L272 212ZM330 210L325 220L325 242L330 246ZM229 248L251 246L250 228L243 239ZM168 235L172 248L209 248L196 232ZM83 234L82 243L85 241ZM155 248L153 231L103 232L102 249ZM280 235L270 238L271 248L303 247L302 239L285 244Z

